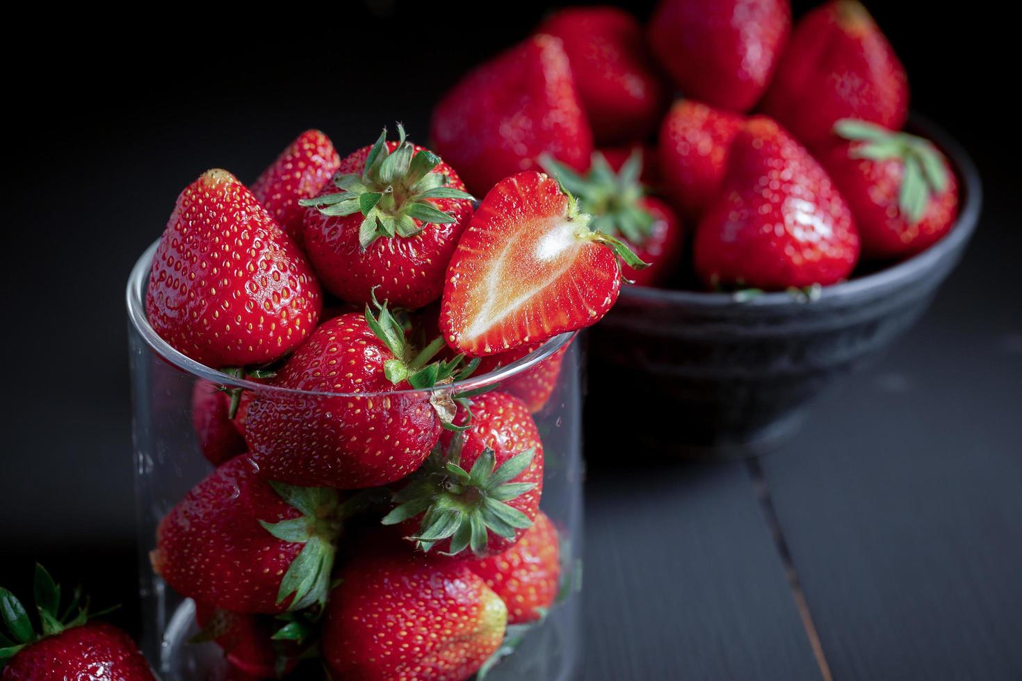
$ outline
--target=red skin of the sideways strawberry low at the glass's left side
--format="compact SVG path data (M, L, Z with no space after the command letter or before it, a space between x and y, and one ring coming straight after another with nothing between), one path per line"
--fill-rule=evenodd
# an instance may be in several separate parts
M238 456L193 487L156 531L153 569L174 590L237 613L282 613L281 579L304 544L271 535L260 521L299 517Z

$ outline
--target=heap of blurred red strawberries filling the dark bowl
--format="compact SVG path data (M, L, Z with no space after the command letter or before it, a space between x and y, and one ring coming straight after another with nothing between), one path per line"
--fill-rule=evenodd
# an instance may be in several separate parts
M455 85L431 135L472 191L549 169L651 262L637 283L749 297L947 233L959 183L908 115L904 69L856 0L794 27L785 0L664 0L646 27L554 13Z

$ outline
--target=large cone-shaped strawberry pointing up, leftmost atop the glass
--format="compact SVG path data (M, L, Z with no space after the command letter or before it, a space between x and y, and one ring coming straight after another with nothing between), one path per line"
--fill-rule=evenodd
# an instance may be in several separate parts
M175 349L216 369L268 363L312 333L321 305L301 252L233 175L207 171L181 193L145 299Z

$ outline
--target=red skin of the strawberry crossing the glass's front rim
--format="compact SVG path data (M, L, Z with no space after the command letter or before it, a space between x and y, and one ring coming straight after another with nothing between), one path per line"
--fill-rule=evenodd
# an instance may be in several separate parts
M256 395L245 439L262 475L354 489L387 484L419 468L439 438L440 422L426 393L393 392L410 386L384 376L383 362L392 357L363 314L324 322L272 385L345 395Z

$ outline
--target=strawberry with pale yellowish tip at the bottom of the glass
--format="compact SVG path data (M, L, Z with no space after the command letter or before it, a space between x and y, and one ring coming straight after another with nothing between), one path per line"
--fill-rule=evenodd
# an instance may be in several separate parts
M338 679L467 679L503 640L507 607L463 563L364 550L338 580L322 642Z

